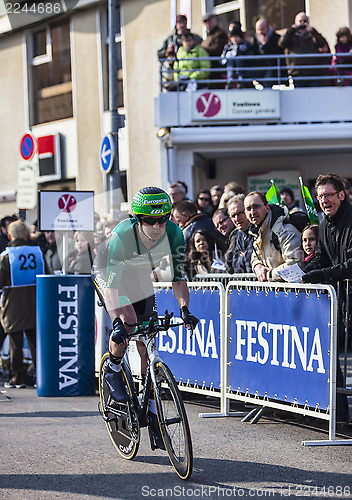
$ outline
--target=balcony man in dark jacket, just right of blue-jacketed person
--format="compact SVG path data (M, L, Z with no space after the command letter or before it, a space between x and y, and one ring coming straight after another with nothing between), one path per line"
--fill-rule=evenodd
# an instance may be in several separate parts
M266 19L259 19L255 25L255 35L252 45L253 54L257 56L283 54L283 49L279 47L279 40L280 35L275 33L269 22ZM267 68L257 73L257 78L263 87L271 88L277 83L277 71L273 68L273 66L277 66L275 58L260 58L255 62L255 66ZM263 81L261 78L272 78L272 80Z

